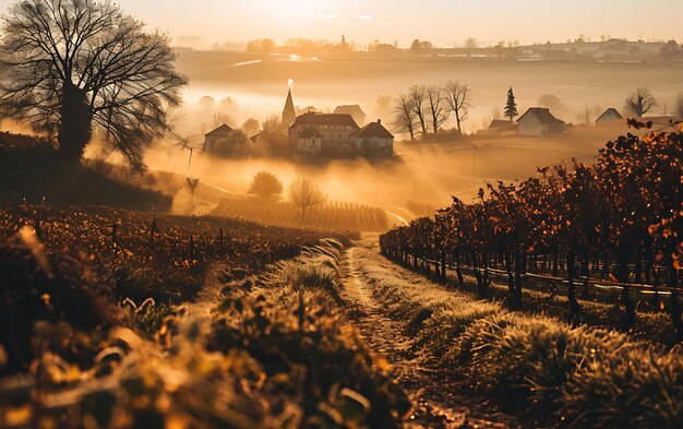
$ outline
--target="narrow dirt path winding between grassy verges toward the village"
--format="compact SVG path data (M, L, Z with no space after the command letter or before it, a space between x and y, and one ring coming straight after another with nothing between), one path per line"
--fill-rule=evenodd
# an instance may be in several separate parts
M452 370L423 364L423 359L410 350L411 338L406 333L408 321L392 319L390 307L373 294L375 282L368 277L369 265L374 265L371 269L384 270L387 276L395 276L402 282L412 281L414 274L381 257L376 250L375 236L368 236L363 242L348 249L342 265L342 295L347 303L348 318L361 331L368 346L392 364L394 377L414 402L415 412L406 426L518 427L510 416L487 409L482 404L472 405L475 400L467 396L463 383L455 379ZM415 286L443 291L441 286L422 278Z

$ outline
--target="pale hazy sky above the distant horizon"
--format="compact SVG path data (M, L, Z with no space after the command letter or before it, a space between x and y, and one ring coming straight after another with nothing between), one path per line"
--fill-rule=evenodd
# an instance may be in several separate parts
M0 0L4 9L14 0ZM579 34L683 39L683 0L118 0L151 26L205 44L272 37L453 46L564 41Z

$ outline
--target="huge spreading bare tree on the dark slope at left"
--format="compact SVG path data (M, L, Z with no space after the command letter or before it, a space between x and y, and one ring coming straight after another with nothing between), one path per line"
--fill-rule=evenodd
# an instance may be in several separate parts
M135 166L169 131L167 110L187 79L170 39L108 1L23 0L3 16L0 106L35 129L57 130L60 153L83 155L93 126Z

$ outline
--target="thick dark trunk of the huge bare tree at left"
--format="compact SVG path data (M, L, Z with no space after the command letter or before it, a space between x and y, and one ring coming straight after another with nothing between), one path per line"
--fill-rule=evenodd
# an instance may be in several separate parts
M59 152L68 160L77 162L93 135L93 109L87 93L71 82L64 83L59 122Z

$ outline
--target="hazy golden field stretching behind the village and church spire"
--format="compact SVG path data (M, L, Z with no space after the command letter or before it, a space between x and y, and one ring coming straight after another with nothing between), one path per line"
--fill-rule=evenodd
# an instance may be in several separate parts
M493 107L502 107L505 91L514 86L520 112L542 94L554 94L565 104L562 118L576 121L585 106L622 108L626 94L647 86L673 105L683 93L681 65L673 63L597 63L576 61L506 61L493 59L392 57L290 57L245 52L182 51L178 64L190 76L189 102L203 95L231 96L241 115L264 116L281 111L287 80L293 79L295 103L319 108L359 103L366 112L375 111L380 95L395 96L412 84L443 84L462 80L474 94L472 118L479 127ZM659 111L657 112L659 114Z

